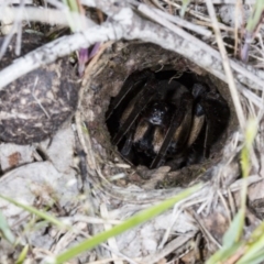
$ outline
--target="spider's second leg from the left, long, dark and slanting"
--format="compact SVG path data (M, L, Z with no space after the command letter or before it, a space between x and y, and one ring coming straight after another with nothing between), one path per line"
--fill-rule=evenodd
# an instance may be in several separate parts
M128 133L130 128L134 124L135 120L138 119L140 113L145 109L151 99L153 99L157 95L156 90L158 90L160 86L156 82L157 81L155 79L151 79L139 92L133 109L128 114L128 118L122 123L118 133L113 136L112 143L114 145L119 144L123 135Z

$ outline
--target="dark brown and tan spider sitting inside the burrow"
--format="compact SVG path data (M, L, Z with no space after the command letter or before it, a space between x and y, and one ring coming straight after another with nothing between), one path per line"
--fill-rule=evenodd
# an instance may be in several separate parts
M168 161L176 167L209 157L210 147L227 128L229 108L216 89L196 82L157 79L151 70L134 72L107 112L118 119L112 143L123 157L144 160L150 168Z

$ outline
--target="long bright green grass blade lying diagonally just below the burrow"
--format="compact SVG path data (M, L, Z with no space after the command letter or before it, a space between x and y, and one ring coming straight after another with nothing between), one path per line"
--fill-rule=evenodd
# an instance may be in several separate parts
M166 211L167 209L173 207L176 202L193 195L195 191L199 190L201 187L202 187L202 185L197 185L191 188L188 188L175 197L172 197L156 206L153 206L148 209L143 210L142 212L139 212L138 215L129 218L123 223L118 224L108 231L99 233L99 234L92 237L91 239L85 240L81 243L79 243L78 245L67 250L66 252L58 255L52 263L61 264L66 261L69 261L70 258L77 256L78 254L99 245L100 243L108 240L109 238L117 237L118 234L121 234L129 229L132 229L143 222L146 222L151 218L154 218L154 217L158 216L160 213Z

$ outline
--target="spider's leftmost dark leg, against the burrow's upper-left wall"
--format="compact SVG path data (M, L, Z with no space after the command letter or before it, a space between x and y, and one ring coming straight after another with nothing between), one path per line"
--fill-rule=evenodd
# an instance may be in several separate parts
M113 101L111 102L109 110L107 112L106 120L108 120L114 109L117 109L120 103L123 101L123 99L128 96L133 96L133 94L136 92L136 90L146 82L147 79L153 79L154 74L148 70L143 72L134 72L131 74L122 85L122 88L117 97L114 97Z

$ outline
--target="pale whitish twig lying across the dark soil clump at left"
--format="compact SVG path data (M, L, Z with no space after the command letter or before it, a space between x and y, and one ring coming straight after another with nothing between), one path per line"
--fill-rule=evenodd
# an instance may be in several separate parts
M82 33L59 37L16 59L14 64L2 69L0 72L0 88L42 65L56 61L57 57L66 56L80 47L89 47L96 42L106 42L109 38L120 40L122 35L123 32L120 24L108 22Z

